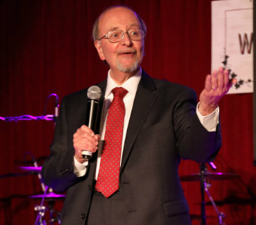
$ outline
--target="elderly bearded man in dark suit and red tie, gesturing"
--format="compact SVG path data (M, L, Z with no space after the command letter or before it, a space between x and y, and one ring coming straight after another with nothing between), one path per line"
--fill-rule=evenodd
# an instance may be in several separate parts
M93 37L110 71L99 133L85 125L87 89L63 98L44 181L67 190L62 224L189 224L178 166L206 162L221 146L218 101L233 83L221 68L192 89L147 75L146 26L128 7L110 7ZM103 141L104 140L104 141ZM92 152L90 160L84 150Z

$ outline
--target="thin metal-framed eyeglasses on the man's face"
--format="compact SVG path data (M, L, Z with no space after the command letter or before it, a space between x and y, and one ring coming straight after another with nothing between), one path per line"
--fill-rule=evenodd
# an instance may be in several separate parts
M103 37L99 38L101 40L103 38L107 38L110 42L115 43L122 40L125 37L125 33L128 34L128 37L131 40L143 40L145 37L145 32L141 29L131 29L126 32L124 31L108 31Z

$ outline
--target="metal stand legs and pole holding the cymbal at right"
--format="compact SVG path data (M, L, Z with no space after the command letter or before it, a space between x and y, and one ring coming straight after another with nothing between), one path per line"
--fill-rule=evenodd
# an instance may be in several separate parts
M212 166L212 165L210 165L210 166ZM218 211L218 208L217 208L214 200L212 199L212 196L209 193L208 187L210 187L210 184L208 184L206 182L205 172L206 172L206 165L205 165L205 163L201 163L200 164L200 190L201 190L201 198L202 198L202 202L201 202L201 219L202 219L202 221L201 221L201 224L206 225L206 211L205 211L205 201L204 201L204 192L206 192L206 194L209 197L209 200L212 203L213 208L215 209L216 213L218 214L218 224L222 225L222 224L224 224L223 219L224 219L225 215L223 212Z

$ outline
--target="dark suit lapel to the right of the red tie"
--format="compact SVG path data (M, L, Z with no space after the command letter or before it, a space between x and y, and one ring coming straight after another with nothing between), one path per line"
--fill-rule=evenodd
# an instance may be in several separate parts
M125 146L122 154L122 164L120 172L125 166L131 148L134 145L135 139L146 120L155 100L158 98L152 91L156 89L155 83L151 77L143 72L136 96L134 98L134 106L131 111L131 117L128 124L128 129L125 137Z

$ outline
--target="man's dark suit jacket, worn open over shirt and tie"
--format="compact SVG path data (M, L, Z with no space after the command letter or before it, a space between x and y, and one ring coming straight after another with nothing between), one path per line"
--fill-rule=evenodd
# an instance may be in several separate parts
M103 92L106 85L106 80L98 84ZM51 154L42 169L48 186L67 190L62 224L84 224L92 199L97 154L86 175L78 178L73 172L73 134L85 122L86 92L63 98ZM188 215L178 175L181 157L205 162L221 146L219 125L208 132L197 118L196 104L192 89L143 72L120 169L119 190L129 224L170 224L173 217Z

